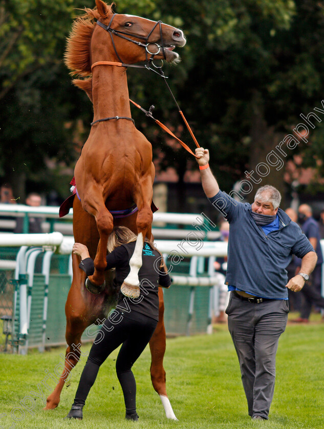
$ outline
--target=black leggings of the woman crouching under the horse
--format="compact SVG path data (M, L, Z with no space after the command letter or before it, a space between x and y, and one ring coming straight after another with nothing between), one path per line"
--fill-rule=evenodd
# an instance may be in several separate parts
M109 319L105 320L82 371L74 405L84 405L100 365L122 344L116 360L117 377L123 390L126 413L136 413L136 382L131 368L152 337L158 322L137 312L132 312L132 316L136 320L123 316L117 324L116 321L113 324ZM116 320L119 318L116 317Z

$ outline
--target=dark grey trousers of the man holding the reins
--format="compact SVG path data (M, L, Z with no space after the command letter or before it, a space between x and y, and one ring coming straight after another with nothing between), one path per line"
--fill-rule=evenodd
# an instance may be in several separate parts
M240 362L249 415L267 419L274 390L275 354L287 324L288 301L251 303L231 292L226 313Z

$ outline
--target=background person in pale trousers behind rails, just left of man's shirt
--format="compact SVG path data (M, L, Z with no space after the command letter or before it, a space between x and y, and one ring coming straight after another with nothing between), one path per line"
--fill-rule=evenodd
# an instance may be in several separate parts
M220 225L220 232L221 232L221 241L228 242L229 223L226 221L226 219L223 219ZM225 276L226 269L227 269L227 256L216 258L214 262L214 269ZM229 292L226 284L223 284L221 288L214 286L214 294L218 294L219 315L214 316L212 319L212 322L226 323L227 314L225 313L225 310L229 300Z

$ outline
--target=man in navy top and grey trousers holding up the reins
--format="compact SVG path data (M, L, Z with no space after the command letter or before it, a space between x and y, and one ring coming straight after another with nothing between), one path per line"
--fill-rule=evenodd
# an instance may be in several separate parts
M230 224L226 284L231 296L226 313L239 358L248 413L267 420L273 398L275 354L289 313L288 289L298 292L317 256L299 226L279 208L280 193L263 186L253 204L222 192L208 165L209 153L196 149L204 192ZM300 272L288 282L292 254Z

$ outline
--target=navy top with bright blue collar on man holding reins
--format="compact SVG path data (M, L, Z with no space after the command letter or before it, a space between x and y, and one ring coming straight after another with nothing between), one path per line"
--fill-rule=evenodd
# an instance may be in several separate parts
M278 209L275 224L261 228L249 203L237 202L221 190L209 200L230 224L225 283L251 295L287 299L286 267L292 255L303 258L314 251L299 226Z

